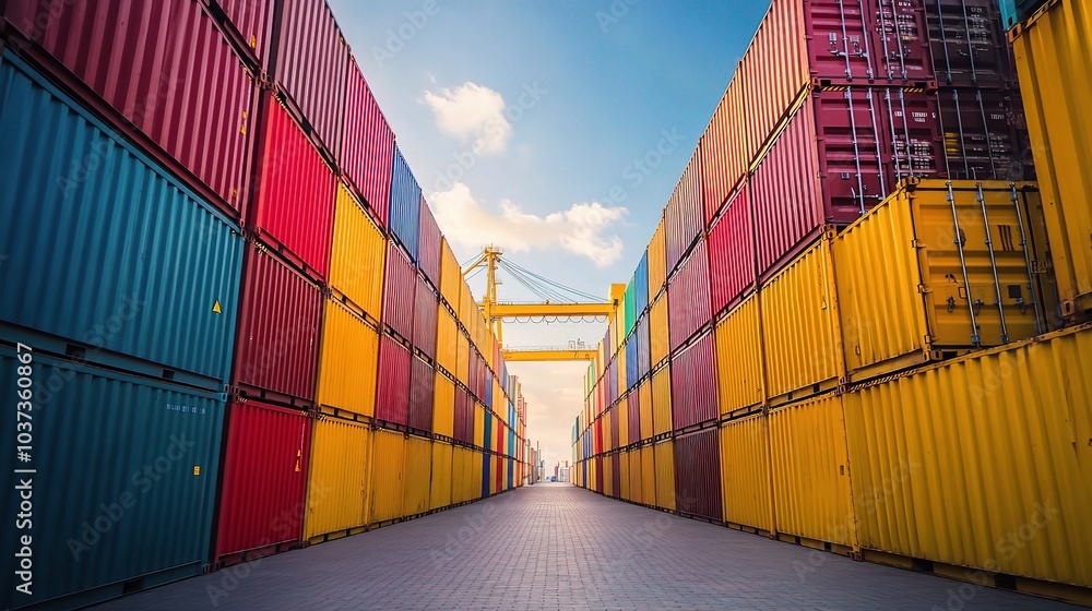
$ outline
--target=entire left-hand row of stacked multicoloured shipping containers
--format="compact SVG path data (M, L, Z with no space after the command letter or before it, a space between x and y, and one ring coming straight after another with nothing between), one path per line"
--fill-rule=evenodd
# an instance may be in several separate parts
M40 499L3 538L48 567L7 608L523 482L520 383L325 2L3 10L3 447Z

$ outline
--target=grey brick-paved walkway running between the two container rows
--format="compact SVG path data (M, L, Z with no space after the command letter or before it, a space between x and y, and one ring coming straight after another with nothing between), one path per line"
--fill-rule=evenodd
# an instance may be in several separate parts
M1078 608L538 484L97 609Z

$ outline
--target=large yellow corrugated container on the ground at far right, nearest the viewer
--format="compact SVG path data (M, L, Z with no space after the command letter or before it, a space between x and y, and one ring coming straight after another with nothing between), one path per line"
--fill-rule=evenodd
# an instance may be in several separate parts
M1090 352L1085 325L847 395L862 547L1092 585Z

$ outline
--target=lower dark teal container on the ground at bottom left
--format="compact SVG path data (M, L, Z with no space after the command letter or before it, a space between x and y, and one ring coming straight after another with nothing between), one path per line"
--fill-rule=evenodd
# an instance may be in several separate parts
M34 571L34 594L14 594L12 575L5 584L19 598L5 592L5 600L38 603L136 577L163 583L200 575L212 536L223 402L212 393L24 354L33 358L39 451L26 467L37 470L34 499L55 502L34 504L34 566L40 567ZM0 384L11 394L12 411L20 362L13 348L0 347ZM45 404L47 397L51 406ZM14 458L14 424L7 430L0 447ZM147 465L156 466L154 481L144 471ZM27 536L14 528L20 502L14 477L26 476L8 476L0 492L12 516L0 535L9 550L20 548L17 535ZM109 522L107 512L121 512L117 505L127 502L139 506L126 505L124 519L114 520L106 531L87 531L86 524ZM97 544L73 547L92 538ZM80 607L120 594L114 587L55 602Z

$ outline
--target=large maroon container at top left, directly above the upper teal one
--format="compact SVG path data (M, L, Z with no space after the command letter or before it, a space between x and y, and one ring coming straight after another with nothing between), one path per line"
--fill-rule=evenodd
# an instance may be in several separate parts
M102 96L96 101L78 92L122 131L135 127L162 148L150 151L153 156L239 218L249 188L256 89L199 2L12 0L4 14L40 45L27 51L60 64L49 71L70 83L74 76Z

